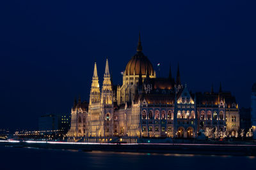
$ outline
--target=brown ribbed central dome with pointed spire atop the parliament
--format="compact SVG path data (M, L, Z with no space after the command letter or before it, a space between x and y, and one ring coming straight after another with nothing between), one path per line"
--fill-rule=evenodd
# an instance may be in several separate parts
M145 56L142 52L141 40L139 36L137 53L127 63L124 75L139 75L140 71L142 75L146 75L147 69L150 75L154 74L154 69L150 60L148 60L147 56Z

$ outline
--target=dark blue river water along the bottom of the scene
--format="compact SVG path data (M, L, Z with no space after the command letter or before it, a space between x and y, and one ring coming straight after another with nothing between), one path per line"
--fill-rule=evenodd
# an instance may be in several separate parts
M0 169L256 169L256 157L82 152L0 146Z

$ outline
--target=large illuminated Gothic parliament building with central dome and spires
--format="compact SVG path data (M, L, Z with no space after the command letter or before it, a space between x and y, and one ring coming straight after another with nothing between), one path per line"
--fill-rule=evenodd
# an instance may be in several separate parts
M89 103L74 102L71 128L67 136L110 140L122 136L127 142L137 138L196 138L199 129L238 131L239 111L230 92L191 93L176 81L170 68L168 78L157 78L156 71L142 52L139 38L136 54L129 60L123 84L114 86L106 60L100 89L94 65ZM90 140L92 141L92 140Z

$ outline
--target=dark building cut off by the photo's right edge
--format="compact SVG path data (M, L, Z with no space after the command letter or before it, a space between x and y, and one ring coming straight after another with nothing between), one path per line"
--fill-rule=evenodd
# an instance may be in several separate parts
M252 122L252 127L253 127L253 139L256 139L256 83L254 83L252 86L251 122Z

